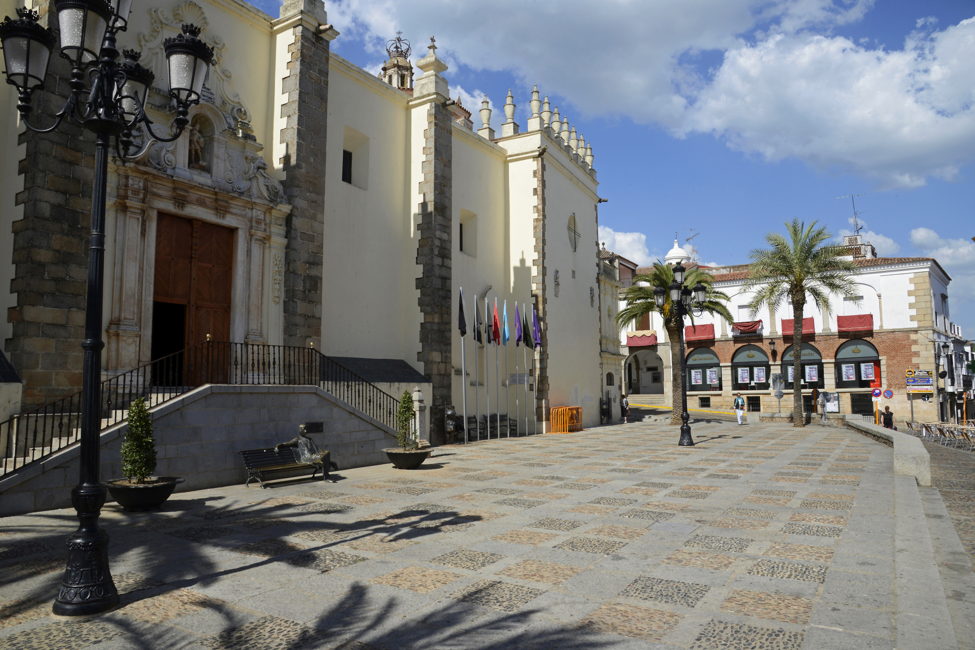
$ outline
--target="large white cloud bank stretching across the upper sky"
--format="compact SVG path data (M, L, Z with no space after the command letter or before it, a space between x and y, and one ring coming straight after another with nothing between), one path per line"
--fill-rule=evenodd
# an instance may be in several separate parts
M434 33L451 65L537 83L570 123L580 114L624 116L677 136L713 133L768 161L796 158L886 187L953 178L975 156L975 18L940 31L921 18L903 48L888 51L830 34L863 18L874 0L498 0L487 11L450 0L326 5L342 32L339 48L343 38L361 38L381 53L402 29L419 50ZM568 46L580 18L586 47ZM716 52L723 57L714 69L693 65ZM528 97L516 94L521 109Z

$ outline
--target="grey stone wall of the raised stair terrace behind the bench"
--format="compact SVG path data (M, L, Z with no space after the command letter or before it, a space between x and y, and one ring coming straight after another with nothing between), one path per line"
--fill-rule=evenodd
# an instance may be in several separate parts
M331 451L339 469L385 463L382 450L396 447L392 429L316 386L206 385L153 409L152 416L156 474L186 479L178 491L243 485L247 473L238 451L291 440L304 422L324 422L325 433L310 435ZM102 481L122 476L127 428L122 423L101 433ZM310 472L292 476L302 474ZM75 446L0 478L0 516L70 506L77 482Z

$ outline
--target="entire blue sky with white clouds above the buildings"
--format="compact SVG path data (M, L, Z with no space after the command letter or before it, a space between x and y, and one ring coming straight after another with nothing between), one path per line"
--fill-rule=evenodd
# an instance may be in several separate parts
M279 3L256 3L277 16ZM640 263L688 229L704 263L741 264L799 217L952 275L975 337L975 1L327 1L332 49L375 71L397 29L437 36L474 112L538 84L592 143L601 238ZM498 126L500 110L492 116Z

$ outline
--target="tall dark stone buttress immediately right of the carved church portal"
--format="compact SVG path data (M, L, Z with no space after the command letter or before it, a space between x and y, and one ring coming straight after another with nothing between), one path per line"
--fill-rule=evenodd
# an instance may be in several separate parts
M286 345L322 343L322 247L325 234L326 126L329 109L329 41L305 25L293 28L290 74L281 107L287 126L281 143L281 185L292 204L284 276Z

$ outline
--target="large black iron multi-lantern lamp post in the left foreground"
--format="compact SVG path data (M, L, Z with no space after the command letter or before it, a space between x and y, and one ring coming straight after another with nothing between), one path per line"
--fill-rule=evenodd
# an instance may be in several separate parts
M44 89L48 63L55 48L55 34L38 24L37 12L19 8L17 19L0 23L7 83L20 92L20 119L32 131L46 133L64 120L73 120L95 132L95 186L92 194L92 240L88 258L88 295L85 303L85 350L82 367L81 453L79 483L71 490L71 504L78 513L78 529L67 539L68 560L55 600L54 613L86 616L113 609L119 596L108 568L108 534L98 526L105 502L99 481L98 433L100 430L101 304L104 285L105 193L108 148L112 138L123 161L133 146L134 129L145 142L172 142L189 123L189 108L200 101L200 91L213 62L213 49L197 38L200 29L183 25L182 33L164 42L169 63L170 97L176 118L167 137L152 131L145 101L154 80L150 70L137 63L138 53L125 53L117 62L115 36L125 31L132 0L56 0L60 32L59 54L71 64L71 94L45 128L27 122L31 95Z

